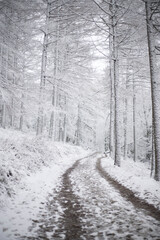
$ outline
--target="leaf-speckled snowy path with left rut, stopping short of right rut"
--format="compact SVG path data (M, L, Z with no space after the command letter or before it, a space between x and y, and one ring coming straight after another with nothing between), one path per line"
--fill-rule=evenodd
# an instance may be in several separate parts
M48 197L45 212L30 231L34 237L22 239L158 240L160 221L104 179L100 160L92 156L77 161L63 174L57 190Z

